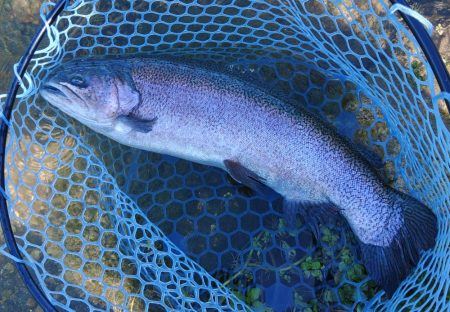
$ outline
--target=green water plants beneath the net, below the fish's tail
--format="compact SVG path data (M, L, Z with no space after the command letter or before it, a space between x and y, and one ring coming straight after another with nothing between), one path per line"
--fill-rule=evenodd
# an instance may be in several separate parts
M316 297L314 299L308 299L301 291L294 292L292 306L294 311L321 311L324 306L331 307L339 302L343 306L351 307L357 297L357 288L368 299L379 290L373 281L368 280L365 267L358 262L350 247L356 243L351 233L345 233L345 240L342 240L344 234L339 234L334 226L321 225L320 241L323 244L316 248L313 254L297 258L298 250L292 246L293 239L296 237L295 231L288 231L284 226L285 224L279 222L279 231L275 236L269 231L259 232L251 240L243 263L235 267L237 272L231 276L228 274L218 277L225 286L232 289L253 310L270 311L263 304L265 288L262 286L250 286L251 288L248 288L249 285L255 285L253 280L254 270L259 268L263 268L267 272L274 272L279 276L280 281L286 284L291 284L298 271L301 271L306 278L339 285L337 287L331 286L331 288L329 288L329 285L325 286L322 290L315 292ZM342 224L338 223L336 226L342 226ZM342 245L343 241L346 242L346 245ZM263 264L256 259L260 259L265 250L272 246L274 242L277 242L285 259L291 261L278 267L263 267ZM296 260L294 261L294 259ZM325 280L326 276L327 280ZM355 284L348 284L346 281ZM360 283L359 286L356 286L357 283ZM361 310L363 306L357 306L355 309Z

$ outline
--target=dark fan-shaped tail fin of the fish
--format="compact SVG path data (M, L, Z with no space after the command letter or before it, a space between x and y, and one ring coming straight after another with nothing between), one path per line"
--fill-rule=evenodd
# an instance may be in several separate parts
M437 219L418 200L397 193L396 204L403 211L403 226L388 247L361 243L363 260L370 277L389 297L419 262L420 252L436 242Z

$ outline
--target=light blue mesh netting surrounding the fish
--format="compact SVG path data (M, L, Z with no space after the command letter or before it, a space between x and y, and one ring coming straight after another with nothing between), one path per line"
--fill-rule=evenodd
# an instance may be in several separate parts
M43 12L52 6L46 3ZM449 133L434 75L384 1L75 1L50 27L7 145L16 240L51 302L88 310L446 310ZM59 64L152 55L258 81L383 159L439 218L392 298L344 220L316 240L225 172L128 148L37 96ZM444 277L444 278L441 278Z

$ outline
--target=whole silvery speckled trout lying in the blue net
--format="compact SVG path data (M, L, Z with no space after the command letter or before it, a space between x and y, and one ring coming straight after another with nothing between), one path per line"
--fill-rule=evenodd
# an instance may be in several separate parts
M275 192L288 220L342 215L388 296L436 243L434 212L386 185L331 126L227 71L151 57L72 60L39 92L121 144L218 167L259 193Z

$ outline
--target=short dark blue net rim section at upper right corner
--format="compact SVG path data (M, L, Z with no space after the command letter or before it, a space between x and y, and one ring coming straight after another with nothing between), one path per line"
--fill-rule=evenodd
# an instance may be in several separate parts
M393 4L401 4L406 8L410 8L405 0L391 0L391 2ZM405 14L401 11L399 11L399 13L405 20L409 29L412 31L414 37L422 48L425 57L430 63L431 69L433 70L439 87L441 88L441 92L450 93L450 75L447 71L447 68L445 67L444 62L442 61L438 49L431 39L430 34L425 29L424 25L413 16ZM447 105L447 109L450 112L450 100L445 100L445 104Z

